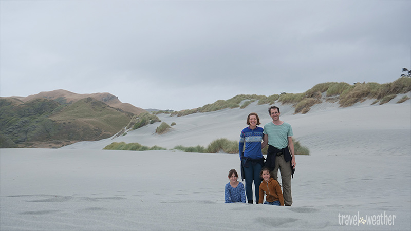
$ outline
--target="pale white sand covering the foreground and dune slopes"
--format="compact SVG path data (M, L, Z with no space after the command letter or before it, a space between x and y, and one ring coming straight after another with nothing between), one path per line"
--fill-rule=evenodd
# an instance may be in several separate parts
M238 154L102 150L238 140L250 112L261 126L271 121L268 105L160 114L176 123L162 135L155 123L60 149L0 149L0 230L411 230L411 101L397 101L322 103L295 115L278 105L310 149L296 156L292 207L225 204Z

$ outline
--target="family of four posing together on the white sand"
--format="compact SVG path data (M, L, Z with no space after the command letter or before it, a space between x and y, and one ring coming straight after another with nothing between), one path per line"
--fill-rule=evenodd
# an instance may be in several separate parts
M246 186L237 181L238 174L231 169L228 175L230 182L226 185L226 203L255 202L264 204L291 206L291 177L295 168L294 145L292 143L291 125L279 120L279 108L271 106L268 109L272 122L264 128L260 125L257 113L250 113L247 117L248 127L242 129L238 145L241 179L246 180ZM267 160L261 149L268 145ZM279 185L278 169L280 170L283 192ZM254 193L253 186L254 183ZM244 195L245 194L245 195Z

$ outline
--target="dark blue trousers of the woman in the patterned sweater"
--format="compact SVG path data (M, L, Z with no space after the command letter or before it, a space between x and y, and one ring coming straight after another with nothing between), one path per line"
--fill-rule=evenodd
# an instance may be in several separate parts
M242 160L245 161L245 160ZM244 178L246 179L246 196L248 201L253 200L253 181L255 187L255 201L258 203L259 187L261 183L260 171L263 166L254 161L247 161L248 167L244 167Z

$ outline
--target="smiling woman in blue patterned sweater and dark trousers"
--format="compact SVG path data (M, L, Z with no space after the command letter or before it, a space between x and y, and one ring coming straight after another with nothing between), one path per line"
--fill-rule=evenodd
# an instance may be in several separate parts
M258 204L259 186L261 183L260 171L264 166L264 157L261 148L267 145L263 141L263 128L260 125L260 119L257 113L250 113L247 117L248 127L242 129L238 150L241 160L241 178L246 179L246 195L249 204L253 204L253 181L255 187L255 202ZM243 152L244 144L246 147Z

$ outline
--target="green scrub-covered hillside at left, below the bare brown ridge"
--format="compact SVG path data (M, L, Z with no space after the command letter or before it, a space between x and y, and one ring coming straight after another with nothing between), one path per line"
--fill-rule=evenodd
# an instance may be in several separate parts
M24 104L0 99L0 148L100 140L113 136L132 116L93 98L63 105L48 99Z

